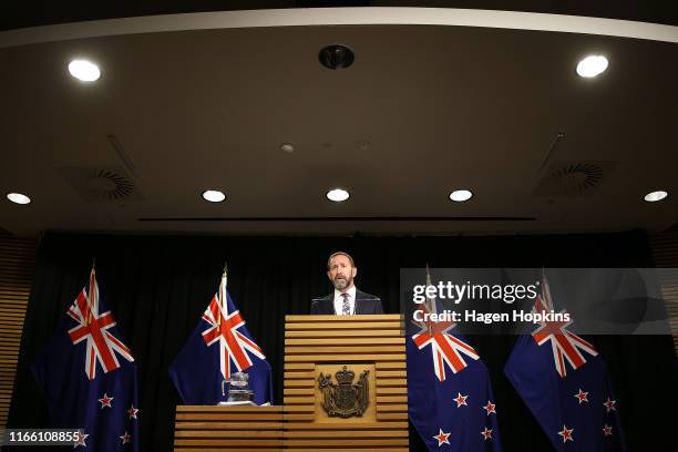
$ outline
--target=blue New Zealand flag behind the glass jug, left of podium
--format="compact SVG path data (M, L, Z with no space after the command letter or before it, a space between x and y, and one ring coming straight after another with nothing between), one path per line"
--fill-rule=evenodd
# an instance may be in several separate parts
M246 372L254 402L273 403L270 366L245 327L226 290L226 276L197 327L170 367L170 377L185 404L225 401L233 372Z

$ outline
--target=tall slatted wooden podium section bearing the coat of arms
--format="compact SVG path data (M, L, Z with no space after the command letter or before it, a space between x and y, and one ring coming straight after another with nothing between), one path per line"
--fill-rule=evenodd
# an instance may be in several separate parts
M399 315L287 316L284 448L407 451L404 343Z

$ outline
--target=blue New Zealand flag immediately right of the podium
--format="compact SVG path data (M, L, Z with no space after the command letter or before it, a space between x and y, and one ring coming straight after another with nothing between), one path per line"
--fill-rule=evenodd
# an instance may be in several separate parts
M427 284L430 285L430 278ZM435 312L435 300L421 305ZM490 376L451 321L418 322L407 337L408 411L430 451L502 450Z

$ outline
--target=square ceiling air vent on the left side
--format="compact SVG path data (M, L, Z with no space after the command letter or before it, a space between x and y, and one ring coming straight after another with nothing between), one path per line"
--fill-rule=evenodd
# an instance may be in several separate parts
M66 167L60 171L75 192L90 203L143 199L134 181L122 167Z

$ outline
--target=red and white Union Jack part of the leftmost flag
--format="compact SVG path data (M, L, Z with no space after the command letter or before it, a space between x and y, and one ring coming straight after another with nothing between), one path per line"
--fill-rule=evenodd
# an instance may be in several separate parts
M96 378L96 362L104 373L120 368L116 352L130 362L134 361L130 349L109 331L115 326L111 311L99 314L99 285L94 267L90 273L89 287L83 288L66 314L79 325L69 330L73 345L86 340L84 370L88 379Z

